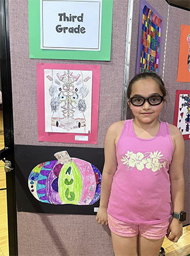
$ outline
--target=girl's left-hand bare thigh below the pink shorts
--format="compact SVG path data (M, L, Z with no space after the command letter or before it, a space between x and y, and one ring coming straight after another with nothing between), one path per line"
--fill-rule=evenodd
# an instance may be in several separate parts
M111 231L111 238L115 256L138 256L138 236L118 236Z

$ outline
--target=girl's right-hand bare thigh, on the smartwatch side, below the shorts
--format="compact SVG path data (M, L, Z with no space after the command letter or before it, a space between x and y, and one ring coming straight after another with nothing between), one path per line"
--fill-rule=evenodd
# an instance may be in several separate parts
M163 240L149 240L139 234L139 256L158 256Z

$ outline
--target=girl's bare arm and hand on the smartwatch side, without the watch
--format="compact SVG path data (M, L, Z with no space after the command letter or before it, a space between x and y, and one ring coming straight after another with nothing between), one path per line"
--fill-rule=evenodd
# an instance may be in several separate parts
M172 196L172 210L180 213L184 210L184 139L181 132L174 125L170 125L170 134L174 143L174 154L170 164L170 183ZM172 219L167 231L167 238L177 242L182 235L182 222Z

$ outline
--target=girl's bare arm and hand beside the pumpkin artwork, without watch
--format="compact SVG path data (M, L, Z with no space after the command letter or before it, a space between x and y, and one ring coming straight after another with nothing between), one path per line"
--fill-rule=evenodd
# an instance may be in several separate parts
M117 170L115 146L117 143L118 133L120 132L122 126L121 122L117 122L110 126L106 134L105 165L103 168L103 176L101 180L101 197L99 203L99 210L96 215L96 221L98 221L99 224L108 224L107 208L110 198L113 176Z

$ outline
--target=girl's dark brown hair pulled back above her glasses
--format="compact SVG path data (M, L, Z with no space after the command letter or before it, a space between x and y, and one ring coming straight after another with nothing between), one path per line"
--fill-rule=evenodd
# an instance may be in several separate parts
M165 85L163 83L163 80L161 79L161 77L159 77L159 75L155 74L155 73L148 73L148 72L144 72L141 74L136 75L132 80L130 80L129 82L129 86L127 88L127 98L130 98L130 94L132 91L132 86L135 82L137 82L138 80L141 79L153 79L155 80L156 84L158 84L160 91L162 91L163 96L167 96L167 89L165 89Z

